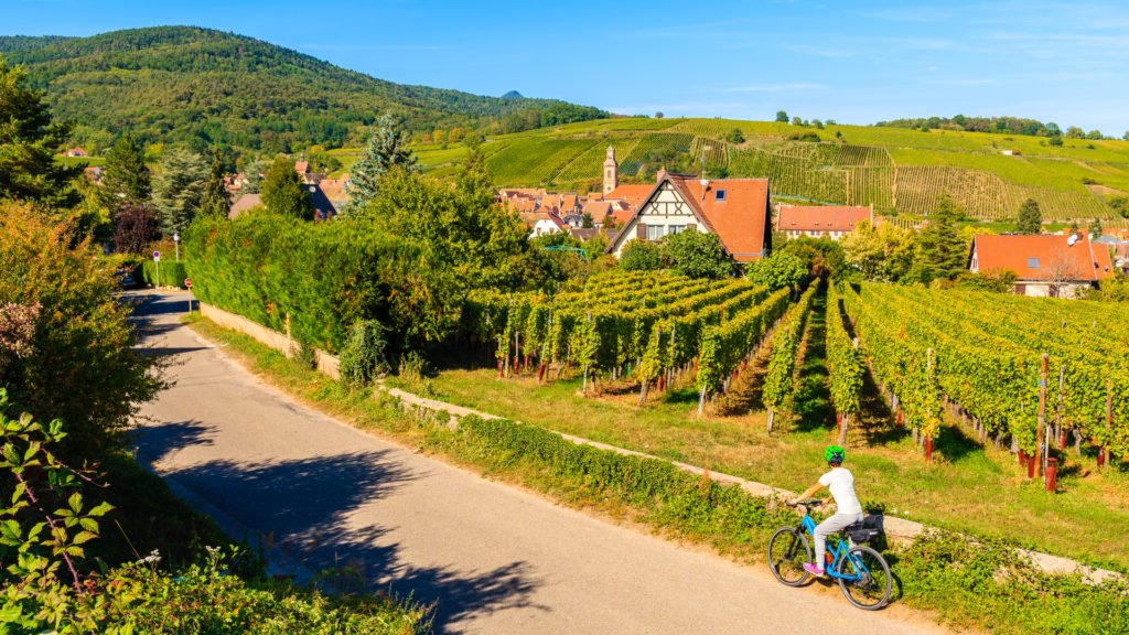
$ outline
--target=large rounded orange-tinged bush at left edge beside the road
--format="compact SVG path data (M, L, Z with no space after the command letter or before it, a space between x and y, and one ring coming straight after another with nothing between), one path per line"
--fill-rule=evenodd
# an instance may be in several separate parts
M130 310L99 253L25 208L0 214L0 298L36 310L30 353L0 368L0 385L28 412L67 420L64 447L84 458L119 442L163 385L157 362L133 348Z

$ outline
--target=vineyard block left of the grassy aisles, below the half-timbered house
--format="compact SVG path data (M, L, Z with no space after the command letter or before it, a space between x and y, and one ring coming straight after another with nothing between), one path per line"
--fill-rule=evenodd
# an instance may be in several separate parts
M479 294L466 313L482 340L497 342L499 374L549 381L575 369L585 392L589 380L631 375L645 401L649 386L692 373L704 402L728 388L788 306L787 289L664 271L605 273L552 297Z

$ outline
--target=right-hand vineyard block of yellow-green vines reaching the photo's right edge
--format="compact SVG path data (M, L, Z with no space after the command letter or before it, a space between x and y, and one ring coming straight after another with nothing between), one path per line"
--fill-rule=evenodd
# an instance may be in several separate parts
M849 324L835 327L857 334L876 381L924 442L936 437L948 403L982 440L1008 441L1027 455L1039 438L1061 450L1069 435L1079 452L1097 446L1100 462L1106 453L1129 456L1123 307L878 284L832 294L830 303L840 301ZM833 308L829 323L840 319ZM829 358L830 349L829 339ZM838 369L831 366L832 384Z

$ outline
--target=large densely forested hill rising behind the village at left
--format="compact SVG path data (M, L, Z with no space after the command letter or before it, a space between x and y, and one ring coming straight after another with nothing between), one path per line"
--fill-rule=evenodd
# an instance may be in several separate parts
M93 37L0 37L0 54L46 89L76 142L147 142L290 151L358 142L385 112L412 131L513 132L607 113L555 99L484 97L405 86L266 42L195 27Z

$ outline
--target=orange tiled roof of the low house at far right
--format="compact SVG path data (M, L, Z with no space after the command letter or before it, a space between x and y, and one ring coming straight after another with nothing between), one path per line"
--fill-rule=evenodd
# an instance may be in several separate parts
M1093 282L1113 275L1110 251L1083 235L1074 245L1061 234L979 235L972 243L978 271L1009 270L1021 280Z

